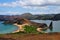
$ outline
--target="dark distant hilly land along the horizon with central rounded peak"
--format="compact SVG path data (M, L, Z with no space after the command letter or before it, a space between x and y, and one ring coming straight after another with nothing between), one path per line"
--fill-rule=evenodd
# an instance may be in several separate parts
M15 18L26 18L28 20L60 20L60 14L32 15L31 13L24 13L21 15L0 15L0 21L13 20Z

